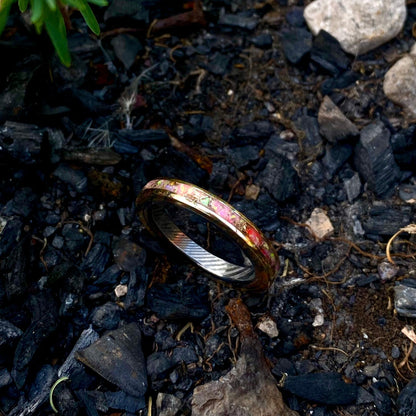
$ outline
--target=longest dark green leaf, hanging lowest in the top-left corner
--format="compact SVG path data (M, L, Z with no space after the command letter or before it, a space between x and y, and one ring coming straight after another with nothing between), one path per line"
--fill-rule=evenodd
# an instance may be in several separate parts
M45 27L59 59L65 66L70 66L71 55L68 49L65 22L58 9L53 11L45 8Z

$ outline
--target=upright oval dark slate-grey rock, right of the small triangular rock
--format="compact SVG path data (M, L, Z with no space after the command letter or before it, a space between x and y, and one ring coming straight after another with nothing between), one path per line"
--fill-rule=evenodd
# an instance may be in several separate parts
M394 192L401 174L390 146L390 132L381 121L361 130L355 149L355 165L377 196L386 198Z

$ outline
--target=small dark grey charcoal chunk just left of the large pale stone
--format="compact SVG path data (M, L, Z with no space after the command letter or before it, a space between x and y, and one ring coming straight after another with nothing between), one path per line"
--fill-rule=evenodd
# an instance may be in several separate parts
M287 60L292 64L298 64L312 49L312 34L303 27L281 30L280 41Z

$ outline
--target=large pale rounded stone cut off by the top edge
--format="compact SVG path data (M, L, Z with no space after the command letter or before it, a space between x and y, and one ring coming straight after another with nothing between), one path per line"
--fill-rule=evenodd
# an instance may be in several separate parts
M400 33L406 0L315 0L304 17L314 35L325 30L346 52L360 55Z

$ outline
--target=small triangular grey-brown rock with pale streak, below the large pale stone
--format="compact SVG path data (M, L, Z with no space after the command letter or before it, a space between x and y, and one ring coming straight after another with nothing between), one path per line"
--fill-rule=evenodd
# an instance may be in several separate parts
M318 123L322 136L332 143L359 134L355 124L348 120L327 95L319 107Z

